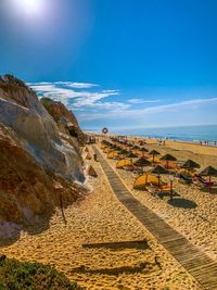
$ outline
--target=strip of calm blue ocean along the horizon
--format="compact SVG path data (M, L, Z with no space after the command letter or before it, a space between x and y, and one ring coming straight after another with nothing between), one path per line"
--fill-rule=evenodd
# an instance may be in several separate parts
M110 129L111 134L154 137L157 139L168 138L170 140L200 142L208 141L209 144L217 142L217 125L163 127L163 128L133 128L133 129Z

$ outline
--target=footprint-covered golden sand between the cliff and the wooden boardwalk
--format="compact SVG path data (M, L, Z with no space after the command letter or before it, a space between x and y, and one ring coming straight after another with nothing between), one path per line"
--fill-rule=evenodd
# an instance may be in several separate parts
M116 199L100 163L93 161L88 161L88 163L93 165L99 176L88 178L88 186L92 190L82 201L64 210L67 225L63 223L61 211L56 210L50 220L49 229L35 236L22 232L20 240L1 248L0 253L21 261L53 264L85 289L201 289L192 276ZM120 176L130 186L125 173L120 173ZM146 194L149 206L163 215L164 206L167 206L164 201L156 203L156 200L152 201L145 192L133 192L133 194L141 202L143 196ZM179 210L171 209L170 211L176 213ZM170 220L169 213L164 213L164 217ZM180 223L184 219L180 220L179 215L176 216L173 225L179 229L182 228ZM207 224L205 225L207 227ZM183 228L187 227L183 226ZM195 239L197 237L196 230L195 234L189 235L195 236ZM142 239L148 239L150 249L135 248L114 251L104 248L82 248L84 243ZM133 273L136 268L143 265L142 263L145 265L144 269ZM123 267L127 267L128 273L122 272Z

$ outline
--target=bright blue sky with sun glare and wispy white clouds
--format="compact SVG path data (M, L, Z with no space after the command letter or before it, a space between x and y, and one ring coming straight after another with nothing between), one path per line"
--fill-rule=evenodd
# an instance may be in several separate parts
M217 124L216 12L215 0L1 0L0 74L87 129Z

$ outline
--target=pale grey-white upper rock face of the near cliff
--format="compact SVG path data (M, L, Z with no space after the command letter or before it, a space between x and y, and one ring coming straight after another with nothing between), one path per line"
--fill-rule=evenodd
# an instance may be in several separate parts
M43 166L84 181L79 152L62 140L55 122L35 92L10 76L0 78L0 122L11 127L25 149Z

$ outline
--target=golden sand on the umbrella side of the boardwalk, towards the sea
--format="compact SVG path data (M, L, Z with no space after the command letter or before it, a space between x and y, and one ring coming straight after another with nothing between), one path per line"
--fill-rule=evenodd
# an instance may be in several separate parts
M149 141L148 141L149 142ZM192 159L201 164L201 168L208 165L217 168L217 148L201 147L190 143L168 142L166 146L157 146L148 143L145 148L155 149L162 153L170 153L179 161ZM170 147L173 146L173 148ZM188 149L188 150L187 150ZM203 151L203 154L199 152ZM103 153L106 157L106 154ZM136 177L130 172L116 169L116 161L108 160L112 167L119 177L128 186L131 193L148 207L153 210L158 216L164 218L166 223L177 229L193 244L199 247L203 252L213 260L217 260L217 190L212 192L203 191L195 185L183 185L175 178L174 190L179 197L174 199L174 203L169 203L169 197L156 198L148 191L139 191L133 189ZM199 169L200 171L200 169ZM168 175L163 175L162 179L169 182ZM212 178L217 180L216 178Z

